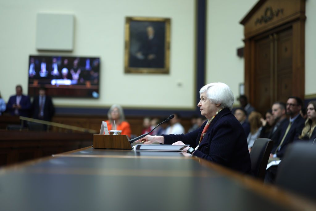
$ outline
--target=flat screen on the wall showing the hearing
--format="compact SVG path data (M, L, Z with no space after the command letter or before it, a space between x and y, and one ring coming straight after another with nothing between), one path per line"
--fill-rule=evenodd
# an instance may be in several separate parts
M30 55L28 95L99 98L100 58Z

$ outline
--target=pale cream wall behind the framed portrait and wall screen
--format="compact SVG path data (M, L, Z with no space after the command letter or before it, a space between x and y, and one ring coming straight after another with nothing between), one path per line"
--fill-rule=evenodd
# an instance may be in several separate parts
M39 12L74 14L73 52L36 51ZM126 16L171 18L170 74L124 73ZM118 103L124 107L195 108L194 21L194 0L1 1L1 95L7 101L15 93L16 84L22 84L27 93L29 54L98 56L100 98L54 98L55 105L108 107Z

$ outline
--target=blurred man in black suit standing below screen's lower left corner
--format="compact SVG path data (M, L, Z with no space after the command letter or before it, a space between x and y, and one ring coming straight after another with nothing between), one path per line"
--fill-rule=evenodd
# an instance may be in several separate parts
M46 89L39 89L39 96L34 97L32 103L33 118L45 121L51 121L55 114L55 108L52 99L46 96Z

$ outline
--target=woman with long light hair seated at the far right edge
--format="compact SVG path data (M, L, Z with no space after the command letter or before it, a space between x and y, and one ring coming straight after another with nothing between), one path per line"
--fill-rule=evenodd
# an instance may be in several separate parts
M309 140L314 143L316 140L316 101L310 101L307 104L307 120L305 121L305 126L302 130L301 135L299 135L300 140Z

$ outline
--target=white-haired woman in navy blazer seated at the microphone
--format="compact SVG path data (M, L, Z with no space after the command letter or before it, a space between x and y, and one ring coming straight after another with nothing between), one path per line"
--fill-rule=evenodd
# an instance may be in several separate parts
M184 145L183 151L205 158L235 171L251 174L251 162L245 132L231 113L234 94L224 83L211 83L200 90L201 115L208 121L195 131L181 135L147 135L137 142Z

